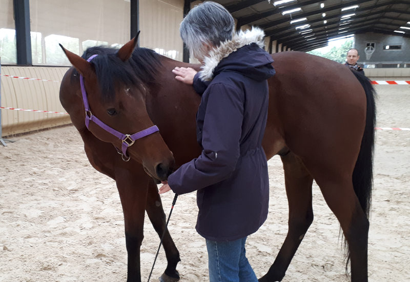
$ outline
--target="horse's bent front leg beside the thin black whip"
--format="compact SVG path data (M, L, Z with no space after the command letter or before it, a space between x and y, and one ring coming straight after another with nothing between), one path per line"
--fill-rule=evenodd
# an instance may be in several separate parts
M165 272L161 275L160 280L164 282L172 282L179 280L179 274L176 270L176 265L181 260L179 258L179 252L175 247L174 241L171 238L168 228L165 228L166 218L163 211L161 198L158 194L158 188L154 184L153 180L150 180L148 187L148 198L147 198L147 214L151 220L152 226L158 233L159 238L165 230L165 235L163 236L162 245L165 250L165 255L167 257L168 265Z

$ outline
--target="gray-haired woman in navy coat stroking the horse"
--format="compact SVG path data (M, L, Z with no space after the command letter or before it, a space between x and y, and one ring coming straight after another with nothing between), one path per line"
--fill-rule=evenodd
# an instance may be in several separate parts
M211 282L256 282L245 241L268 215L268 166L261 143L268 115L266 79L275 71L272 57L261 48L263 31L233 30L231 14L214 2L196 6L181 23L182 40L203 64L196 74L174 70L178 80L193 83L202 94L196 116L202 153L172 173L159 193L197 190L196 230L206 239Z

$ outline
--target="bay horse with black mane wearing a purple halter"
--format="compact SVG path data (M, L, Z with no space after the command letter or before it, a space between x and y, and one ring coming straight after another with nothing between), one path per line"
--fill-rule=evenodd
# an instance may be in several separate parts
M198 70L199 65L135 48L136 38L120 49L91 47L83 57L61 46L73 67L61 82L60 101L83 138L91 165L116 182L125 219L127 281L140 281L145 210L156 232L165 232L168 265L160 279L177 281L179 253L166 229L156 184L201 152L195 130L200 96L172 73L176 66ZM296 51L272 57L276 74L268 80L263 149L268 159L277 154L283 163L289 230L273 265L259 281L280 281L285 275L313 221L313 180L340 223L351 280L367 281L373 87L366 77L329 59ZM84 79L87 105L80 78ZM107 131L132 134L155 126L159 131L135 140L130 137L135 134L120 137Z

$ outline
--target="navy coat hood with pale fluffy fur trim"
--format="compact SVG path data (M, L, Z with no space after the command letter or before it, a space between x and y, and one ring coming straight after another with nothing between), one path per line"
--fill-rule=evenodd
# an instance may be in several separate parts
M271 65L273 59L262 49L264 36L264 32L255 27L234 34L232 40L222 42L210 51L204 59L199 78L209 81L221 71L240 72L255 80L264 80L274 75ZM240 48L242 49L238 51Z

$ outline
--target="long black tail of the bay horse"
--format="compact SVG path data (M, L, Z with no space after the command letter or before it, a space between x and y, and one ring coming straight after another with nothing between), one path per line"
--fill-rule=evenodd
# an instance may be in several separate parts
M370 206L372 203L372 187L373 187L373 152L375 144L375 125L376 125L376 105L375 105L375 90L373 85L364 74L352 69L353 74L359 80L366 94L366 125L360 145L359 156L356 161L355 169L353 170L353 188L359 199L360 205L369 218ZM344 242L345 251L347 254L347 264L350 260L350 254L347 249L347 242Z

